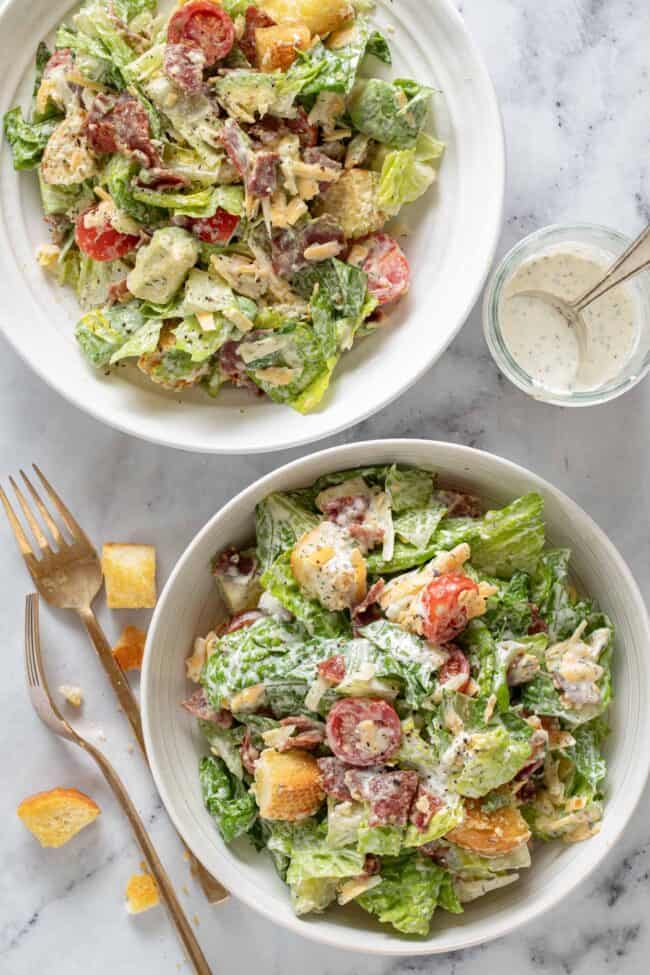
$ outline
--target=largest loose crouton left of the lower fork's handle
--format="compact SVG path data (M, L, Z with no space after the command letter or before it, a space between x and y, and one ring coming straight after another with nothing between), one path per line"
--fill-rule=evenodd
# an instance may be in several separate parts
M57 788L23 799L16 812L41 846L63 846L101 810L83 792Z

